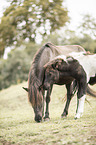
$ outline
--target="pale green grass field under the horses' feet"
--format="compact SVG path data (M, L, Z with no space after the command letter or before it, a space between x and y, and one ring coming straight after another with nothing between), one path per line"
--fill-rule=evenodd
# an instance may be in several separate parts
M96 145L96 99L87 96L84 115L74 120L76 96L69 115L61 119L64 86L54 86L50 102L50 121L36 123L22 83L0 92L0 145ZM96 90L96 85L94 86Z

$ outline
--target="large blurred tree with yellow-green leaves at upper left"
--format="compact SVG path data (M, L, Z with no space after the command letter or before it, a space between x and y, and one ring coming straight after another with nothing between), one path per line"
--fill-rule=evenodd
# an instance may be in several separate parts
M69 20L63 0L11 0L0 24L0 54L23 40L35 42L64 26Z

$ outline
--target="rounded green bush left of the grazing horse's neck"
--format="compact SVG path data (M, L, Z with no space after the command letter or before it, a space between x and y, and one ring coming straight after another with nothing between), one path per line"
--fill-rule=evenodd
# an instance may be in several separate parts
M7 60L0 61L0 90L28 79L32 59L22 50L12 51Z

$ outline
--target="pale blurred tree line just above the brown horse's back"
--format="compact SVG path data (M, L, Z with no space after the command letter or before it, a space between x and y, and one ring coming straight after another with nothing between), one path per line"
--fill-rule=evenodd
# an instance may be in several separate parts
M96 53L96 40L88 34L76 35L75 31L64 29L49 35L44 42L52 42L55 45L81 45L86 51Z

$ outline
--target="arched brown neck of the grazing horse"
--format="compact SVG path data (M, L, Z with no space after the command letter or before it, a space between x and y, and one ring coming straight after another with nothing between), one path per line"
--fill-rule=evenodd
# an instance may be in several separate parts
M41 49L37 51L37 53L34 56L32 66L29 72L29 79L28 79L28 84L32 83L38 83L40 84L40 77L42 77L43 74L43 66L52 60L54 57L59 55L59 50L58 48L51 44L47 43Z

